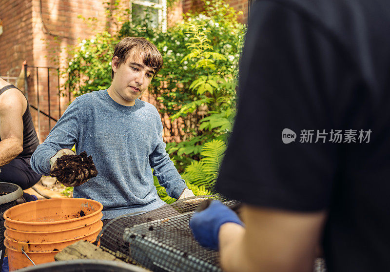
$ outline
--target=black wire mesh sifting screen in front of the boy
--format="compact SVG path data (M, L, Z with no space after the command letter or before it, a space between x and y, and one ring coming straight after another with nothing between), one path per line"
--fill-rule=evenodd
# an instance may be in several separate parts
M188 225L205 199L219 199L231 208L238 204L219 195L195 196L143 214L117 217L103 228L100 247L156 272L221 271L218 252L200 246Z

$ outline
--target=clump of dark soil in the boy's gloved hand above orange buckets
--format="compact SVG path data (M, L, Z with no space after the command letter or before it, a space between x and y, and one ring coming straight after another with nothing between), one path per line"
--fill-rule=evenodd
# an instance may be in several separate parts
M80 155L63 155L50 170L50 176L70 187L79 186L97 175L98 170L92 156L88 157L85 151L81 152Z

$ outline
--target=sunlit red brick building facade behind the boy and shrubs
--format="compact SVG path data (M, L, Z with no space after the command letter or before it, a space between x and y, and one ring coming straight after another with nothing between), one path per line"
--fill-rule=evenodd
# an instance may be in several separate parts
M114 2L114 0L111 0ZM103 0L0 0L0 20L3 33L0 36L0 76L15 83L13 77L20 73L23 60L28 64L28 100L40 111L55 119L64 112L68 94L59 96L58 69L63 68L66 48L78 43L78 39L90 39L93 33L109 27L113 31ZM248 0L227 0L236 10L243 11L241 22L246 22ZM125 8L131 2L120 3ZM200 11L200 0L179 0L167 11L168 26L180 20L182 13ZM97 18L93 29L82 18ZM42 67L42 68L37 68ZM47 68L52 67L52 68ZM20 89L24 91L21 84ZM50 103L49 103L50 101ZM50 106L49 106L50 105ZM49 108L50 107L50 108ZM31 109L34 124L42 142L55 121ZM49 124L50 123L50 124Z

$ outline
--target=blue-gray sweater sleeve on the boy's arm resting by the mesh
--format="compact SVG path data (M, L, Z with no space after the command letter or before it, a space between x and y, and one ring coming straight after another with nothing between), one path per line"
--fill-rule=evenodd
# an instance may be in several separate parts
M167 189L168 195L173 198L179 198L187 186L165 151L166 145L162 139L162 123L159 116L155 133L157 143L156 148L149 155L150 166L154 168L153 174L157 177L159 184Z

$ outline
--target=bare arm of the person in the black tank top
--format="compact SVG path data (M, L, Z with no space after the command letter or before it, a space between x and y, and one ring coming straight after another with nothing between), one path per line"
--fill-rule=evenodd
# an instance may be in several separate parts
M0 167L23 151L22 99L12 89L7 91L7 95L0 97Z

